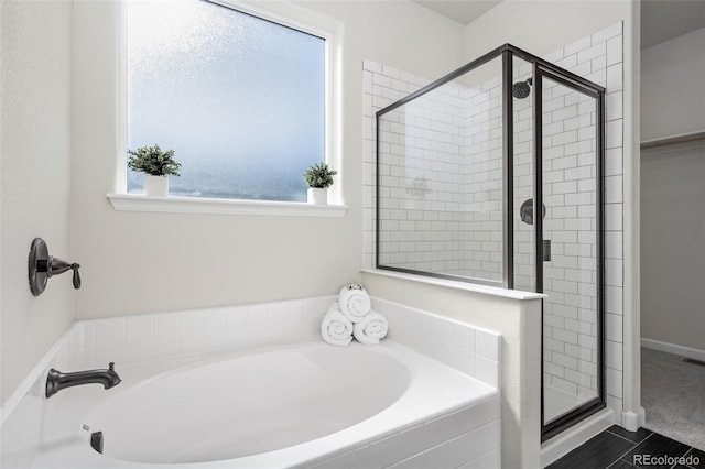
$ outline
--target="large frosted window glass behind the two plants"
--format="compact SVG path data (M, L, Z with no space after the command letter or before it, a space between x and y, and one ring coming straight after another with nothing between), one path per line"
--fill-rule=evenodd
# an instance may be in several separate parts
M128 148L176 152L170 194L305 200L324 133L325 40L203 0L128 3ZM142 181L128 170L128 193Z

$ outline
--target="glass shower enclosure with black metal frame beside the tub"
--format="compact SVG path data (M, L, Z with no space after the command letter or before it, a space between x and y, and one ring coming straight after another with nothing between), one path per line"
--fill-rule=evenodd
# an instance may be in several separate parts
M544 293L542 436L605 407L605 88L510 44L379 110L378 269Z

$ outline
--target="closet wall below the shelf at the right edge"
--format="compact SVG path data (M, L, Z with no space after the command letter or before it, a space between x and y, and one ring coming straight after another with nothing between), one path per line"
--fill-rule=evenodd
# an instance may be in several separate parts
M705 353L705 143L644 150L641 168L641 337Z

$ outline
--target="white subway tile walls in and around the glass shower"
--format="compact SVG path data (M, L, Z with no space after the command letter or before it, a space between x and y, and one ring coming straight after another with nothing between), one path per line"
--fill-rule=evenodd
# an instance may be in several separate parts
M521 46L519 44L519 46ZM605 86L605 255L607 402L621 415L622 24L545 56ZM514 61L514 81L530 76ZM487 72L487 70L486 70ZM364 62L364 266L375 268L375 112L429 79ZM388 74L388 75L387 75ZM380 77L378 77L380 75ZM389 78L389 80L382 79ZM403 77L394 81L394 77ZM454 80L386 114L380 126L380 264L501 279L501 96L499 72ZM489 78L489 79L488 79ZM386 89L389 88L389 89ZM393 91L393 92L392 92ZM399 97L399 98L397 98ZM514 99L514 271L533 290L533 227L518 217L533 196L531 100ZM473 103L475 106L468 106ZM413 106L412 106L413 105ZM596 111L594 99L544 79L544 382L596 395ZM403 127L403 129L402 129ZM477 363L476 363L477 367Z

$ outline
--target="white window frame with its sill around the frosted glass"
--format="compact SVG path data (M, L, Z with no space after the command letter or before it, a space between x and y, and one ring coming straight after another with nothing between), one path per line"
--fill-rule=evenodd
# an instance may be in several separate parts
M340 42L341 25L338 21L319 15L289 2L272 2L268 9L239 0L207 0L215 4L251 14L283 26L312 34L325 40L325 142L324 161L338 171L336 184L329 189L332 204L317 206L296 201L225 199L206 197L147 197L127 193L127 138L128 138L128 39L127 6L120 2L119 30L119 103L118 103L118 155L116 157L115 193L108 198L116 210L156 211L181 214L225 214L265 216L318 216L340 217L347 206L343 204L341 184L341 89ZM165 2L167 8L167 2ZM303 172L303 171L302 171Z

